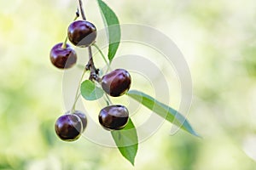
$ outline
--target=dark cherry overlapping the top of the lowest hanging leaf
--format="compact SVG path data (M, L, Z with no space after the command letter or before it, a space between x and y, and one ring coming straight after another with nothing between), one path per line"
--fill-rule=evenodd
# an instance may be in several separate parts
M107 130L119 130L129 120L129 111L123 105L109 105L100 111L99 122Z

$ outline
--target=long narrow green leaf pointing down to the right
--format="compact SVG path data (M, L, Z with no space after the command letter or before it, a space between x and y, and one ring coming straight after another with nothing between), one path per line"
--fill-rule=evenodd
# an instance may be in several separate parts
M151 111L154 111L159 116L162 116L168 122L172 122L177 127L181 127L188 133L200 137L200 135L197 134L195 130L191 127L188 120L186 120L186 118L181 113L172 109L172 107L160 103L158 100L152 98L148 94L144 94L143 92L139 92L137 90L130 90L127 95L130 96L132 99L135 99L138 102L142 103L144 106L146 106Z

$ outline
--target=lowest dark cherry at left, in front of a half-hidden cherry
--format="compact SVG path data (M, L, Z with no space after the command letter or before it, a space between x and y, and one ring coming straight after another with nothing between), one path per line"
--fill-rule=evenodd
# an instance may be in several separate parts
M55 122L55 133L60 139L65 141L74 141L79 139L83 124L79 116L66 114L60 116Z

